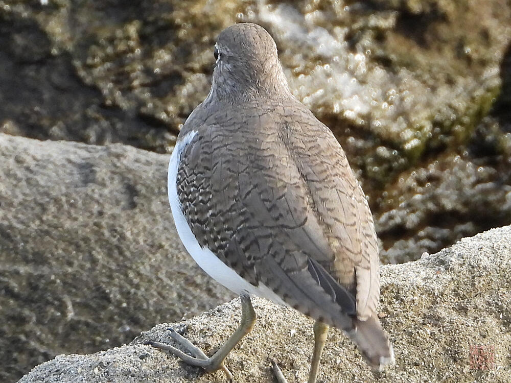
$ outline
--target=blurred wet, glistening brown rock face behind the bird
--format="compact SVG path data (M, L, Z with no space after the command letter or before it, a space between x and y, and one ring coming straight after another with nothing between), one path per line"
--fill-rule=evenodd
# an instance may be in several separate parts
M511 223L510 19L503 0L0 0L0 131L165 152L218 33L257 22L358 172L383 259L415 259Z

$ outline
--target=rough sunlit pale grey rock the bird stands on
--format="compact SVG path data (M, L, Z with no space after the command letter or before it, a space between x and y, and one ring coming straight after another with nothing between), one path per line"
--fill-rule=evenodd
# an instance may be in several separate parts
M319 379L331 382L511 381L511 226L464 238L451 248L382 267L382 323L397 364L373 374L354 345L331 331ZM305 381L312 321L290 308L254 299L258 322L227 357L236 381L273 381L274 359L290 381ZM19 382L224 382L142 344L171 342L168 326L184 328L207 354L240 320L239 300L179 323L160 324L134 342L92 355L59 355Z

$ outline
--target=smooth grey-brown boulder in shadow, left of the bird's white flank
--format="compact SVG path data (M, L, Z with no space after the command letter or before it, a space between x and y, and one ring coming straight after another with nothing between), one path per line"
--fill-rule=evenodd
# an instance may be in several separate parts
M233 297L178 240L168 158L0 134L0 381Z

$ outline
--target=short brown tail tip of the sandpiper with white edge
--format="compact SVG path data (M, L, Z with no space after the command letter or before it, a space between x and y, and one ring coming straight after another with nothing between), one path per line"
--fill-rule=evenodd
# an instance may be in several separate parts
M347 334L371 367L381 371L385 365L394 363L392 344L376 315L365 321L354 319L353 325L354 329Z

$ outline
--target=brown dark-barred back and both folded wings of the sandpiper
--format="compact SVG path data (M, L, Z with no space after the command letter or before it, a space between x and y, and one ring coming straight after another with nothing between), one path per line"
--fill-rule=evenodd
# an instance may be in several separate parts
M373 222L328 128L304 111L292 129L282 108L197 128L178 168L178 190L188 190L180 202L201 246L305 314L347 328L346 315L367 318L378 301Z

